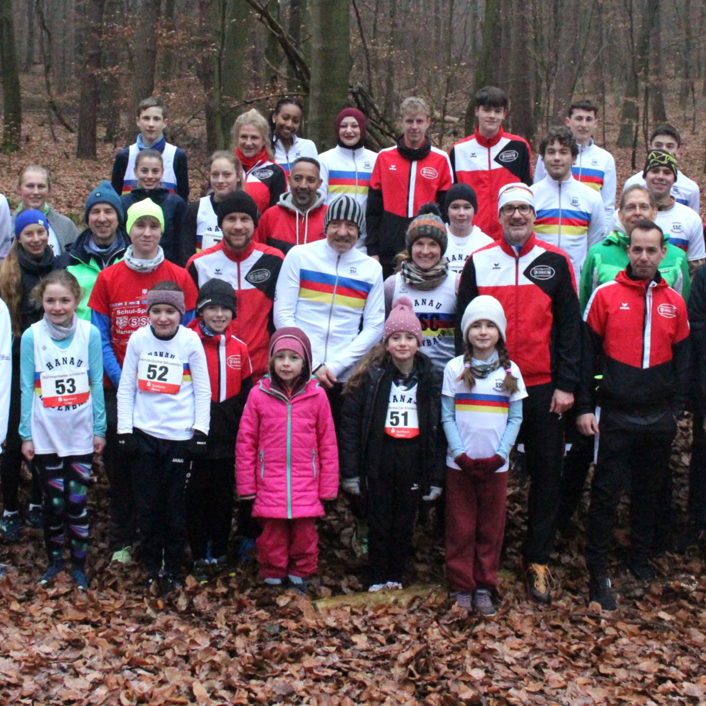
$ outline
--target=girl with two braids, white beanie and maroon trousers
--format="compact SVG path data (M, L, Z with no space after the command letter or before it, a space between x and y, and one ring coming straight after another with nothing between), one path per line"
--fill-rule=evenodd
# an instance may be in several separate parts
M505 347L505 312L495 297L473 299L463 314L465 352L446 365L441 421L446 457L446 578L457 605L494 616L505 532L508 457L527 397Z

